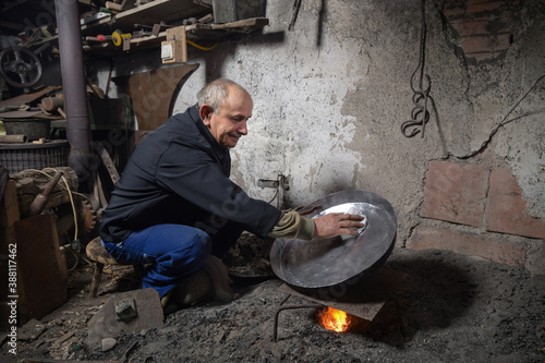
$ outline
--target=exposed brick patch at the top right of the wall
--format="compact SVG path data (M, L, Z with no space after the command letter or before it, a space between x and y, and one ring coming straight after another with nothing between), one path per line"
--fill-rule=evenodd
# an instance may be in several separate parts
M504 56L512 43L509 19L520 1L450 0L443 14L465 58L477 62Z

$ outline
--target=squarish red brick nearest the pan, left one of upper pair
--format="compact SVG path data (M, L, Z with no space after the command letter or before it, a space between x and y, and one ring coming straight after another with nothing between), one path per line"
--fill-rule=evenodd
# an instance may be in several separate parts
M432 161L426 172L421 216L482 225L489 166Z

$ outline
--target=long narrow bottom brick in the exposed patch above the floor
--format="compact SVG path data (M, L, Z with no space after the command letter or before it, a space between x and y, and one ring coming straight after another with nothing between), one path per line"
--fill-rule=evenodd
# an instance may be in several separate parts
M523 243L426 226L419 226L414 230L407 247L447 250L517 267L524 267L528 250Z

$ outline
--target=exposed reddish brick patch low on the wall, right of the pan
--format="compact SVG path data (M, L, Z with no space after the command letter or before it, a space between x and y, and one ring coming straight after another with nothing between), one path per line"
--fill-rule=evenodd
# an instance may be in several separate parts
M525 238L545 239L545 223L528 214L510 170L491 165L432 161L421 217L409 249L450 250L524 267L531 247Z

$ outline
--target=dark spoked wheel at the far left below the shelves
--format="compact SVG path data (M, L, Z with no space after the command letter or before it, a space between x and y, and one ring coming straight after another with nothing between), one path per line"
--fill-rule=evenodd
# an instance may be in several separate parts
M0 74L17 88L32 87L41 78L41 63L26 48L7 48L0 52Z

